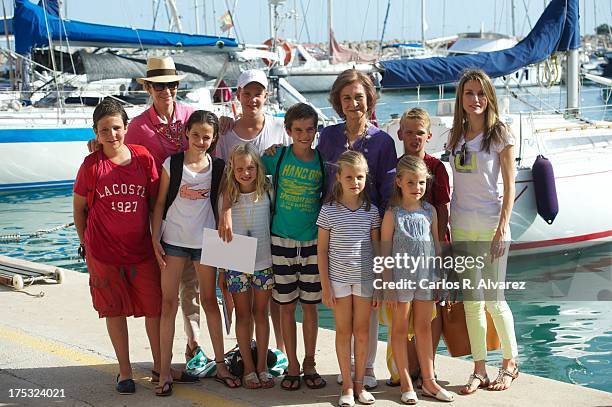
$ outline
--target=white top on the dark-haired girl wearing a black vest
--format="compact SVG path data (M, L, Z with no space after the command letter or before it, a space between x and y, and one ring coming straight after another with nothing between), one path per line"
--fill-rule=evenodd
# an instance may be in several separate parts
M215 216L210 202L212 159L205 172L193 172L183 164L183 178L179 192L164 221L162 240L168 244L191 249L202 247L204 228L215 229ZM170 175L170 157L163 169Z

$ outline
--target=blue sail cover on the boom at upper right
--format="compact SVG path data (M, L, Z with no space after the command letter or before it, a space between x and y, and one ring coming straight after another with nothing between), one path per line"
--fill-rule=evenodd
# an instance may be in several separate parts
M578 0L552 0L529 35L512 48L476 55L381 61L381 85L392 89L452 83L470 68L497 78L543 61L555 51L579 47Z

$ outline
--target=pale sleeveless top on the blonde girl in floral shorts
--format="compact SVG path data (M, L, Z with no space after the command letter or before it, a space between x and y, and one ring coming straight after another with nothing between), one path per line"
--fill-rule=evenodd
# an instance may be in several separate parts
M272 191L269 192L270 196ZM263 198L254 202L256 192L240 194L238 202L232 205L232 231L236 235L250 236L257 239L255 270L272 267L270 238L270 197L265 193ZM223 196L219 195L219 208L223 207Z

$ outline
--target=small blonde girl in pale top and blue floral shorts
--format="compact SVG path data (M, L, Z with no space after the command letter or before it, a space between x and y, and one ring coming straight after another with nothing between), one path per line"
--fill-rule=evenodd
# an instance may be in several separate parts
M225 174L227 193L221 199L231 200L233 232L256 238L257 254L252 273L227 270L219 279L225 279L236 307L236 337L244 361L243 386L270 388L274 379L268 373L266 355L270 337L268 304L274 285L270 253L271 185L259 152L251 143L233 148ZM251 320L255 321L257 366L250 352Z

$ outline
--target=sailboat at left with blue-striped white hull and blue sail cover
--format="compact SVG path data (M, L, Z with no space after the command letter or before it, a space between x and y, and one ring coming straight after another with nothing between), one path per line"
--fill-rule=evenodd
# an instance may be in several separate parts
M52 50L60 41L65 45L67 39L71 46L197 49L224 60L229 60L230 53L241 50L233 38L227 37L64 21L29 0L15 0L13 28L17 52L12 55L15 58L27 58L29 62L32 61L26 55L30 55L33 48L48 46ZM51 52L50 55L54 56L55 53ZM129 60L128 57L123 59ZM104 67L99 61L92 65ZM57 66L53 68L54 87L51 93L57 94L56 106L21 107L21 103L18 103L15 109L0 112L0 155L3 157L0 191L71 185L87 154L86 141L94 137L91 128L93 107L66 105L60 88L55 87L62 72ZM181 65L178 68L188 69ZM140 71L114 74L132 78L144 76L144 73L142 65ZM207 100L199 100L197 104L200 108L211 108L210 96ZM134 117L145 107L128 106L126 111L129 117Z

